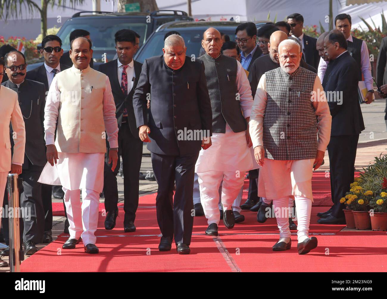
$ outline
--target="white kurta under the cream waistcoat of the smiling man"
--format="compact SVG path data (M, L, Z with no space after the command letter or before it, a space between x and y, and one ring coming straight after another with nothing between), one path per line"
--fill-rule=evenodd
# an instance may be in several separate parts
M56 96L59 91L58 82L54 77L47 95L46 108L50 119L45 120L46 145L54 144L56 119L58 117L59 101ZM104 125L111 148L118 147L116 106L111 93L109 78L106 76L106 89L103 94ZM115 120L115 122L111 120ZM54 122L55 119L55 122ZM113 132L113 133L112 133ZM104 153L60 153L59 160L53 167L47 162L38 182L49 185L62 185L68 190L91 189L97 192L103 190Z

